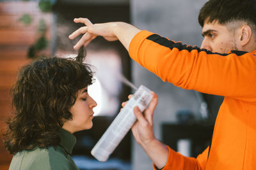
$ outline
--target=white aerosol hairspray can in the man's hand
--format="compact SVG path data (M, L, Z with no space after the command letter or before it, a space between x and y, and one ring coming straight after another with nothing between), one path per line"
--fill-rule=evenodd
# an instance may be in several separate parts
M125 134L131 129L136 122L136 117L133 113L133 108L138 106L140 111L144 111L152 100L152 94L147 87L140 85L131 99L125 104L124 108L118 113L111 125L96 145L91 153L99 161L108 160L109 155L115 150L116 146L122 141Z

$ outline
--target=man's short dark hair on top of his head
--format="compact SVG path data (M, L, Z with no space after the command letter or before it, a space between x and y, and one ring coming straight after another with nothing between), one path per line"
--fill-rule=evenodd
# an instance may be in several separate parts
M198 15L198 22L202 27L205 20L208 20L209 23L217 21L221 25L243 21L252 27L253 31L256 31L256 1L209 0Z

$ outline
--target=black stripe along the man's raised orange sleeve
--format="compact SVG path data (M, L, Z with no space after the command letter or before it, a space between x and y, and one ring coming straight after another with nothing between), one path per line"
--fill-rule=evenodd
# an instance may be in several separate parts
M203 48L201 49L198 46L190 46L190 45L182 44L180 42L175 43L174 41L170 41L167 38L161 37L161 36L159 36L157 34L152 34L152 35L148 36L147 39L151 40L151 41L154 41L155 43L157 43L157 44L159 44L161 46L168 47L171 50L173 48L177 48L177 49L179 49L179 51L181 51L181 50L188 50L188 52L191 52L192 50L197 50L198 52L204 51L207 54L218 54L218 55L222 55L222 56L227 56L227 55L230 54L230 53L213 53L213 52L211 52L209 50L206 50L206 49L203 49ZM231 53L236 53L237 56L240 56L240 55L244 55L244 53L248 53L248 52L232 50Z

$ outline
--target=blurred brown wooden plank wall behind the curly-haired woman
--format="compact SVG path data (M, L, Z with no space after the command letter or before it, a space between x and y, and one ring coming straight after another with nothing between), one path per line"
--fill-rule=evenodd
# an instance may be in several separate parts
M28 13L33 22L29 26L18 22L19 18ZM0 2L0 129L6 125L11 111L10 88L16 81L19 67L31 60L26 55L30 45L33 45L38 34L38 22L44 18L47 27L46 37L51 39L52 14L42 13L35 1L5 1ZM41 53L51 55L51 44ZM3 136L0 134L0 138ZM0 169L8 169L10 155L0 140Z

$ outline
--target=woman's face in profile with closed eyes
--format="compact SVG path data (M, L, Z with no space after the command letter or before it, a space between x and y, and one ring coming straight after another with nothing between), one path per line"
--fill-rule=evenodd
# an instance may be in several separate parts
M74 133L92 128L93 108L97 103L89 96L87 87L78 91L76 103L71 107L72 120L63 124L63 129Z

